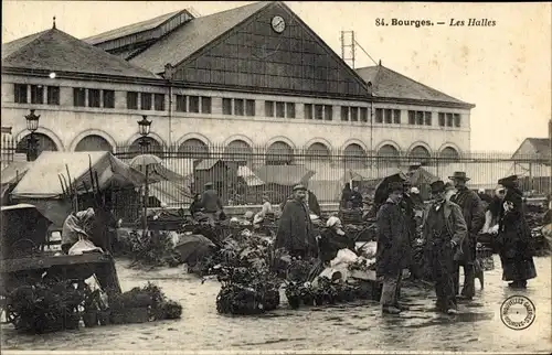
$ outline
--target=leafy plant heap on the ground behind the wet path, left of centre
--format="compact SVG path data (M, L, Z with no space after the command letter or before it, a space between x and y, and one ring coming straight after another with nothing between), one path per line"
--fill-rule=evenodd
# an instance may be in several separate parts
M124 255L131 258L131 267L176 267L182 263L168 232L148 230L145 235L132 230L121 241Z

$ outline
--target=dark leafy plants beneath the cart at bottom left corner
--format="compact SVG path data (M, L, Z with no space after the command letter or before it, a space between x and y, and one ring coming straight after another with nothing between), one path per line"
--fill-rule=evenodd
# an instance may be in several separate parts
M7 299L7 318L17 331L29 334L77 329L84 299L85 291L68 281L21 286Z

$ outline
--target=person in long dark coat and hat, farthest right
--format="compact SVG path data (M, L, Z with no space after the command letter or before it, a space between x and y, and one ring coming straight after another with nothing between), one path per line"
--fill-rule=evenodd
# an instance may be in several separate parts
M537 277L531 249L531 232L523 214L522 192L518 176L511 175L498 181L506 187L506 195L499 213L499 255L502 262L502 280L508 286L524 289L527 280Z

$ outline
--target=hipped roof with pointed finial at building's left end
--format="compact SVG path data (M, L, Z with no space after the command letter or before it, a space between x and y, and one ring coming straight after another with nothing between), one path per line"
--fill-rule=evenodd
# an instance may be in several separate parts
M2 67L158 78L55 28L2 44Z

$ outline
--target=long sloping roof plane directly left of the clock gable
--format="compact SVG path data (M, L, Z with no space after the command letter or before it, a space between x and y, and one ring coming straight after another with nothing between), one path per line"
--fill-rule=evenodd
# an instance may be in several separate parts
M269 1L255 2L192 19L132 57L130 63L156 74L162 73L167 63L177 66L269 3Z

